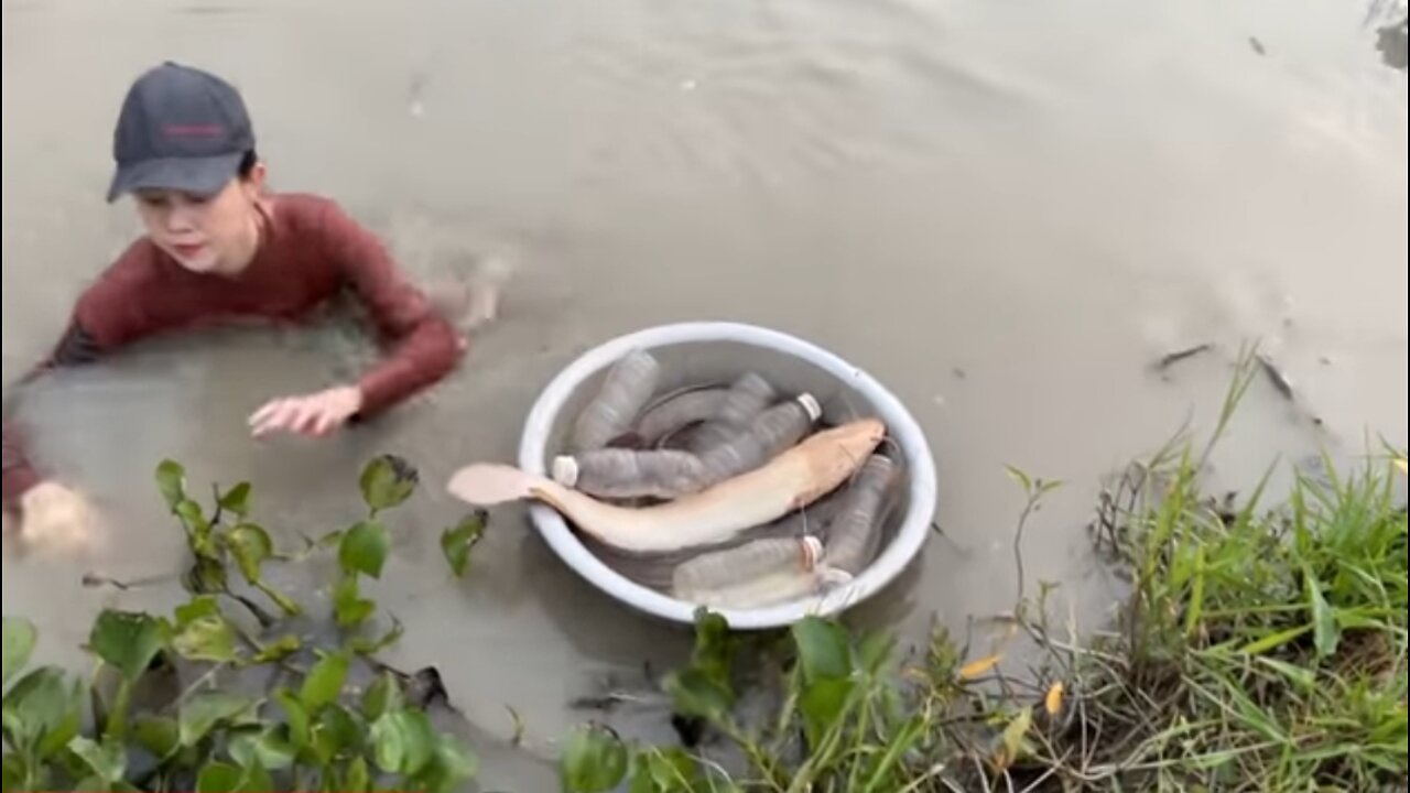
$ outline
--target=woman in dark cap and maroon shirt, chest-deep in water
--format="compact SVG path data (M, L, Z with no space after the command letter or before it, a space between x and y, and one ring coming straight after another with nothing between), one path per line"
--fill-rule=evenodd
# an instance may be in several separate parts
M157 333L248 317L296 322L343 288L367 306L391 354L357 382L268 401L250 416L252 435L323 436L371 419L462 356L465 340L337 203L264 190L250 116L226 80L171 62L145 72L123 102L113 157L109 200L133 195L147 233L79 296L59 344L25 381ZM30 460L18 429L7 405L7 516L25 542L83 542L92 509Z

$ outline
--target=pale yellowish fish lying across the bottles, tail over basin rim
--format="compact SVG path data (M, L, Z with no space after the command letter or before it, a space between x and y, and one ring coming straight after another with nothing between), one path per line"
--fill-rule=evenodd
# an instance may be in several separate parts
M477 507L532 500L627 552L680 550L732 539L836 490L885 437L876 418L818 432L767 464L666 504L615 507L513 466L478 463L451 476L451 495Z

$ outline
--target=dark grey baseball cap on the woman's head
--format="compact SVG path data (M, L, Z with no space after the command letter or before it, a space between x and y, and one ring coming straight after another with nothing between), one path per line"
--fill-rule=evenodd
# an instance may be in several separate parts
M123 100L107 200L142 188L214 195L254 148L240 92L209 72L166 61L137 78Z

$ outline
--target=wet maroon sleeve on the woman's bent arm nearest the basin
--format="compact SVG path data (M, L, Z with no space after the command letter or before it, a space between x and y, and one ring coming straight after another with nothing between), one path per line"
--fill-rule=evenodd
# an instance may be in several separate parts
M323 233L389 349L358 381L362 409L357 418L368 419L443 378L464 344L426 295L406 281L376 236L336 205L326 210Z

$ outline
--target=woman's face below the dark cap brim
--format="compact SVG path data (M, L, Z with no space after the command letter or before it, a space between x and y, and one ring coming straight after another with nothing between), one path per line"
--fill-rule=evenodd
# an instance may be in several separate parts
M137 213L157 247L186 270L234 275L255 254L262 182L264 165L255 165L247 178L233 178L209 196L138 189Z

